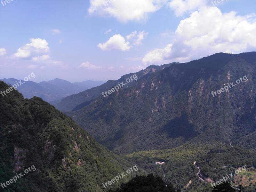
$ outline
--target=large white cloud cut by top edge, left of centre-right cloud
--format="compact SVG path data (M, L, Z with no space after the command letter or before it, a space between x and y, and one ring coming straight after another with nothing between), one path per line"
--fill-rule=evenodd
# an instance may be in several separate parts
M146 21L148 14L156 12L168 0L90 0L88 12L99 16L114 17L121 22Z

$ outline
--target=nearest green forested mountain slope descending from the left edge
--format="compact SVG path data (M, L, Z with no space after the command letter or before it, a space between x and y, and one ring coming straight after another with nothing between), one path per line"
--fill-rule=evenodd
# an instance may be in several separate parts
M9 87L0 81L0 90ZM103 192L103 182L134 167L40 98L24 99L13 90L0 95L0 109L1 191ZM17 179L19 173L23 177ZM14 177L17 181L11 182ZM109 189L119 185L115 183Z

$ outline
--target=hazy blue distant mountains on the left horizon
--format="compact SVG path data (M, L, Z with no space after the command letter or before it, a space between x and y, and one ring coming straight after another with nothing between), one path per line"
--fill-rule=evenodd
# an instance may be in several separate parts
M16 82L20 81L14 78L2 79L7 84L16 84ZM43 100L49 103L59 102L61 99L84 91L86 89L90 89L94 86L99 86L103 84L102 81L84 81L82 83L70 83L66 80L62 79L54 79L51 81L43 81L40 83L35 83L33 81L27 81L21 86L17 88L19 92L23 94L25 98L32 98L34 96L40 97Z

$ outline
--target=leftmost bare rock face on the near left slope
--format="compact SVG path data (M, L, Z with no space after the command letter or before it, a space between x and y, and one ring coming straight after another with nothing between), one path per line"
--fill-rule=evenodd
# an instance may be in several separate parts
M18 172L20 169L24 169L26 158L26 149L14 147L14 170L13 172Z

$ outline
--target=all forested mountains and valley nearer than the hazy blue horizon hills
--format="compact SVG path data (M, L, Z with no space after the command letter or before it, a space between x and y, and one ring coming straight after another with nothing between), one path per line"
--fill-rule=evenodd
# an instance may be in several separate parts
M128 83L134 74L138 79ZM33 164L37 171L4 190L141 190L147 178L155 185L162 177L172 191L209 192L244 166L228 183L254 192L255 78L256 52L216 53L109 80L55 103L62 112L12 91L0 97L1 182ZM7 88L0 81L0 90ZM133 173L123 178L127 184L102 186L134 165L136 174L157 177L130 180Z

